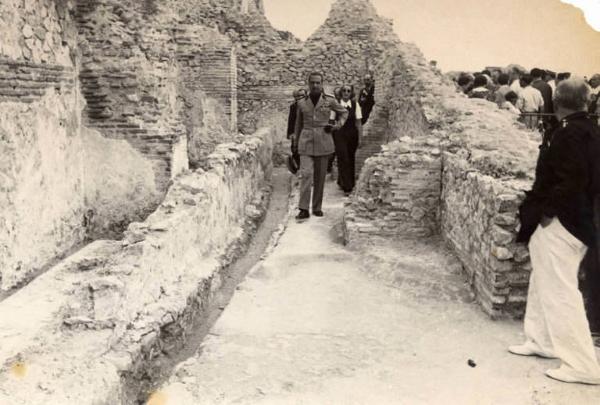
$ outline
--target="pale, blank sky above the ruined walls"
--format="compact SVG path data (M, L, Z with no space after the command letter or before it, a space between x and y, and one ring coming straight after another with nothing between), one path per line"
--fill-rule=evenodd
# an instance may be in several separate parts
M442 70L518 63L531 69L600 73L600 0L371 0L400 40L414 42ZM334 0L264 0L278 29L306 39Z

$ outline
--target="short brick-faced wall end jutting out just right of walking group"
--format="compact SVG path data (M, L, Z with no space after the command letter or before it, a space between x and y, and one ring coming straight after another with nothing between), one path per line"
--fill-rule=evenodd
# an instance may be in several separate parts
M344 214L345 239L437 234L441 159L431 138L403 137L365 161Z

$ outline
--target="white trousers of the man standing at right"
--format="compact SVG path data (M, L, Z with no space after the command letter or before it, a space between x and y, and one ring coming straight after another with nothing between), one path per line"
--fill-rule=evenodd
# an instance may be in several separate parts
M587 247L558 218L538 226L529 242L531 277L525 336L535 350L558 357L574 378L600 378L577 273Z

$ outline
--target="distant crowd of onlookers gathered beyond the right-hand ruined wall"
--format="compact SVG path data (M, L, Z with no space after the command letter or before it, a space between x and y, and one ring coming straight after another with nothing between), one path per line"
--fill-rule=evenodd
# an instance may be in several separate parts
M486 69L477 73L461 73L455 78L458 88L469 98L496 103L499 108L519 115L530 129L548 130L555 123L553 95L556 86L571 77L571 73L555 73L540 68L527 72L519 66L506 69ZM589 80L591 88L588 112L600 115L600 74Z

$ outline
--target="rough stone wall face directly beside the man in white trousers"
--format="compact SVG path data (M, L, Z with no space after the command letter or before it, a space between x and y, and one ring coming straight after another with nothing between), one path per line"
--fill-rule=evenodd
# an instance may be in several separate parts
M518 207L529 180L466 171L466 160L451 153L445 153L443 161L444 239L470 275L484 310L494 318L521 316L530 265L527 249L515 238Z

